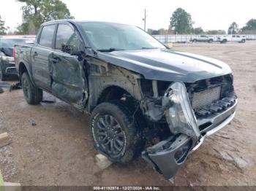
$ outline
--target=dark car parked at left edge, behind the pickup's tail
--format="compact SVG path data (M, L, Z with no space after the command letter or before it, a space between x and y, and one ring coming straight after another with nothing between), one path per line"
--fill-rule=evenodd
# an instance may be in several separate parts
M34 42L34 38L19 37L19 36L4 36L0 37L0 80L18 77L13 58L13 47L15 44Z

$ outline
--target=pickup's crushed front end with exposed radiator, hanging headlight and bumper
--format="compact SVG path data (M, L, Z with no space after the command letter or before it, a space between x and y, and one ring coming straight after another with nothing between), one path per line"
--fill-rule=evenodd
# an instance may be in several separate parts
M152 82L152 97L141 103L154 128L168 132L157 144L146 148L142 157L166 179L172 179L189 153L233 120L237 104L231 74L189 84L171 82L161 93L163 82ZM144 85L145 86L145 85ZM149 109L149 111L148 111Z

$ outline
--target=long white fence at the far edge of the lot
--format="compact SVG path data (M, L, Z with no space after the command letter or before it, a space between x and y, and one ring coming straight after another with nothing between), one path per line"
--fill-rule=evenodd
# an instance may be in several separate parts
M227 35L206 35L206 36L227 36ZM246 40L256 40L256 34L241 34L241 36L246 36ZM190 42L192 39L198 39L200 35L175 35L175 34L168 34L168 35L154 35L159 42L164 44L168 42Z

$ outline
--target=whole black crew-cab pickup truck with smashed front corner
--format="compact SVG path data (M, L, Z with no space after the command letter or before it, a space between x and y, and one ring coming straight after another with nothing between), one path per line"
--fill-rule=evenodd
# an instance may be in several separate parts
M172 179L189 153L233 120L230 67L165 47L117 23L44 23L34 45L15 45L29 104L42 90L91 114L91 136L114 163L138 155Z

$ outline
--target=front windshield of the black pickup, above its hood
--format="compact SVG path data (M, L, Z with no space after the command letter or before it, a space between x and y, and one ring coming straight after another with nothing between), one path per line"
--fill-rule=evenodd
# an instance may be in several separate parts
M165 48L136 26L116 23L83 22L80 26L91 44L99 51Z

